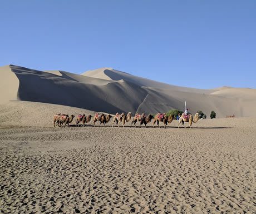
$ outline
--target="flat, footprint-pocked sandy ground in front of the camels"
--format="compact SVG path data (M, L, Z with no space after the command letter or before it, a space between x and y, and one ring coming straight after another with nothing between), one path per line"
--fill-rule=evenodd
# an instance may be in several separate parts
M2 213L256 212L256 117L59 128L0 110Z

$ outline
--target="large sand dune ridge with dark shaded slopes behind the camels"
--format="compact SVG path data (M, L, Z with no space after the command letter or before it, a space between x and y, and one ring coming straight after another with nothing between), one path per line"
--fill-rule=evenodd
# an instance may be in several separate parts
M64 71L37 71L19 66L0 68L0 102L21 101L61 104L101 112L166 112L172 108L203 111L217 117L256 116L256 89L196 89L152 81L112 68L81 75ZM196 80L194 80L196 81Z

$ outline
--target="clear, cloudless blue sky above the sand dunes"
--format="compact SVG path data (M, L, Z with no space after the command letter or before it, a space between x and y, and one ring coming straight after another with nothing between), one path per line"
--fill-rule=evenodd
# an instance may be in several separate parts
M256 88L256 1L0 0L0 66Z

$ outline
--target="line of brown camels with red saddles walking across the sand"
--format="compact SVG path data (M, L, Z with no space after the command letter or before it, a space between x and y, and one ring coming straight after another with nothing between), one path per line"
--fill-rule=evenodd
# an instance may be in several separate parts
M105 115L104 113L96 113L95 116L91 116L91 115L78 115L76 117L76 122L75 122L75 126L79 127L81 125L81 127L85 127L86 124L90 123L90 121L92 120L92 125L93 127L95 127L95 123L97 122L99 124L99 127L101 126L101 124L103 124L103 126L105 127L106 123L108 123L111 120L111 115ZM68 116L65 114L56 114L53 116L53 126L59 126L59 127L66 127L66 125L68 127L70 127L70 123L72 123L73 119L75 118L74 115ZM170 116L166 115L165 113L157 113L155 116L153 115L145 115L144 113L142 113L141 115L139 113L136 113L136 115L132 118L132 113L129 112L127 113L127 115L125 115L125 113L116 113L116 115L112 118L112 127L114 126L118 126L120 127L120 124L122 125L122 127L125 126L125 123L131 122L130 123L130 127L132 126L136 126L136 123L139 123L140 127L142 125L145 125L145 127L147 127L147 124L152 122L153 123L153 128L155 127L155 123L156 125L160 127L159 124L163 123L163 127L166 128L166 126L168 125L168 123L173 122L174 120L174 115L171 114ZM180 128L180 123L183 124L185 122L189 123L189 127L191 128L192 123L196 123L199 120L199 113L196 113L195 116L188 114L185 115L184 113L179 117L178 119L178 127ZM99 121L99 122L98 122ZM161 122L161 123L160 123ZM184 126L184 128L186 128Z

